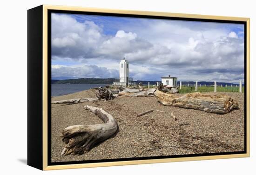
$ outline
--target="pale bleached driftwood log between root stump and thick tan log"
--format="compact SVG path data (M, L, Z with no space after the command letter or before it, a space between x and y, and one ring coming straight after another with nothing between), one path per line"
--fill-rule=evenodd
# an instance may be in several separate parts
M121 91L118 96L119 97L153 97L155 92L155 88L150 89L129 89L125 88Z

